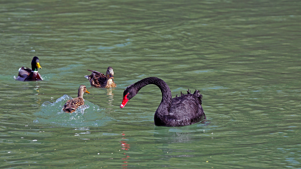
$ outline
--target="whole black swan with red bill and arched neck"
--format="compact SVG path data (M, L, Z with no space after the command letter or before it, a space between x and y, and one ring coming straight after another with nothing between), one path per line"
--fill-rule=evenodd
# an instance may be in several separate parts
M168 85L157 77L147 77L129 85L123 92L123 101L120 108L123 108L142 87L148 84L158 86L162 92L162 100L154 116L155 125L169 127L185 126L206 119L203 107L201 106L203 96L198 90L195 90L191 94L188 89L188 94L183 95L181 92L181 96L172 98Z

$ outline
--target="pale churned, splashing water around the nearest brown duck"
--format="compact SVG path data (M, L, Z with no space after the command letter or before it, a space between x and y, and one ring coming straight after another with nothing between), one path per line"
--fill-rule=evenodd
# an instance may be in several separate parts
M64 127L95 127L104 126L110 121L110 117L101 112L101 108L87 100L85 104L79 106L73 113L65 113L62 109L67 100L72 99L68 95L63 95L55 102L45 101L39 112L36 112L36 119L33 124L51 125Z

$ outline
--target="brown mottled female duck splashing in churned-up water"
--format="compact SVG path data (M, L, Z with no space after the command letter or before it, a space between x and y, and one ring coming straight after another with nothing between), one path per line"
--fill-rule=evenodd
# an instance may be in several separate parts
M82 96L84 93L90 93L87 91L87 88L85 85L80 85L78 89L77 98L73 98L68 100L65 105L63 106L63 110L66 113L73 113L77 107L84 105L84 99Z

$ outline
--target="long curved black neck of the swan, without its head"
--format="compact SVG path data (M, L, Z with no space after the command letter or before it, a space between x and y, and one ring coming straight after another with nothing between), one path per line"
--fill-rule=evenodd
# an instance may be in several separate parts
M158 86L162 92L162 100L158 109L156 110L155 116L158 116L160 118L161 116L168 115L171 106L171 99L172 99L169 86L163 80L157 77L147 77L145 79L138 81L134 85L138 87L138 91L139 91L142 87L149 84L154 84Z

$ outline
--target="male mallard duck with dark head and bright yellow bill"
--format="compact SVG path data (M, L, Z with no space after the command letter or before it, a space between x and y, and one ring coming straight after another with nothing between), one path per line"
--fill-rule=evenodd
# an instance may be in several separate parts
M22 68L19 69L18 77L14 78L16 80L20 81L37 81L37 80L43 80L41 75L38 73L38 68L42 69L40 66L39 58L33 57L33 60L31 61L31 69L22 66Z

